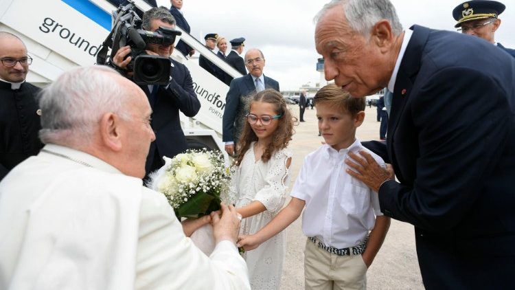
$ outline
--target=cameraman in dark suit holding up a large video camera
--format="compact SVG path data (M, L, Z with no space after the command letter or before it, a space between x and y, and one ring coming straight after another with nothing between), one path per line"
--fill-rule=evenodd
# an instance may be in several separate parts
M166 32L175 28L175 19L164 7L152 8L144 13L141 27L151 32ZM163 33L163 32L161 32ZM130 35L130 32L128 32ZM146 161L146 176L164 165L163 156L174 157L187 149L186 138L179 120L179 111L188 117L194 117L201 109L196 93L193 89L192 76L185 65L170 58L174 50L174 38L170 43L153 44L146 41L146 54L161 56L171 61L170 81L167 85L140 85L146 93L152 107L152 129L156 140L152 142ZM152 41L150 41L152 42ZM133 60L134 47L126 45L120 47L115 56L111 58L113 67L122 71L127 77L136 79L138 71L152 67L156 63L150 60L148 64L139 66L137 62L132 65L134 71L128 71ZM138 56L141 57L141 56ZM159 59L158 59L159 60ZM151 70L150 70L151 71ZM137 83L137 80L135 81ZM147 83L147 82L145 82Z

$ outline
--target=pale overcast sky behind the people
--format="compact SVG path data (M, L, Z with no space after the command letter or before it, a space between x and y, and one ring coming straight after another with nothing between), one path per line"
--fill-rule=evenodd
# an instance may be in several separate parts
M452 11L461 0L391 0L404 29L413 24L453 30ZM264 74L279 82L281 90L297 90L319 82L316 71L313 17L328 1L319 0L184 0L182 11L192 27L192 36L203 39L217 33L229 40L243 36L245 48L258 47L266 58ZM157 0L170 7L170 1ZM496 41L515 49L515 1L504 0L507 8L499 18ZM510 36L512 34L512 36ZM464 52L466 53L466 52ZM474 56L470 56L471 61Z

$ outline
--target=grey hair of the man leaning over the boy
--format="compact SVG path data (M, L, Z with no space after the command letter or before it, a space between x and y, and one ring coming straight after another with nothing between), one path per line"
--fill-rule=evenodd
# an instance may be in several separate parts
M370 36L372 27L382 19L389 21L394 35L402 33L402 24L389 0L332 0L323 6L314 21L318 22L328 10L338 5L345 9L345 18L350 27L366 38Z

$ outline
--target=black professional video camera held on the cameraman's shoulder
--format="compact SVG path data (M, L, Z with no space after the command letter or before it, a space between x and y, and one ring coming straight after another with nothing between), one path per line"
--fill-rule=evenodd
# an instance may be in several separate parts
M138 85L167 85L170 80L170 58L153 56L146 53L147 44L172 45L177 35L181 32L159 27L156 32L139 29L141 18L135 12L132 0L125 6L113 11L113 30L107 36L102 45L102 50L97 56L97 63L106 65L107 48L111 48L111 59L120 47L129 45L131 52L128 56L132 59L127 66L127 71L133 71L133 80Z

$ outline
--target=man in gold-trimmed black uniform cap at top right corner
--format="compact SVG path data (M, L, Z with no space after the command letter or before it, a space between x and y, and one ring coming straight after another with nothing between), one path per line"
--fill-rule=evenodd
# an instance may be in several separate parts
M503 3L497 1L466 1L453 10L453 17L458 21L455 27L459 27L458 30L461 33L477 36L497 45L515 57L515 49L505 48L494 40L494 34L501 25L501 19L498 16L505 8Z

